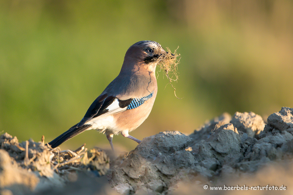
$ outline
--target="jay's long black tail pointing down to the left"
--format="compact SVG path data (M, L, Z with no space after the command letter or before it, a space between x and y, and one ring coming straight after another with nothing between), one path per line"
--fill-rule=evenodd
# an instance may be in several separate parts
M66 132L62 133L61 135L59 135L58 137L56 137L55 139L50 141L48 144L52 148L56 148L57 146L62 144L64 141L67 141L68 139L70 139L70 138L72 138L72 137L84 132L85 130L88 129L88 127L91 126L91 125L83 125L81 127L77 127L77 125L78 124L74 125L69 130L67 130Z

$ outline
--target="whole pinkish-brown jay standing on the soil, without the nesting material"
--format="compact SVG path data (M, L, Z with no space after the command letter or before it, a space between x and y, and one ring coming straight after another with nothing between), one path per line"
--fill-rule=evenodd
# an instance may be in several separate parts
M156 66L158 59L166 55L168 52L154 41L139 41L130 46L120 73L93 101L81 121L48 144L55 148L86 130L106 134L113 151L113 135L119 133L139 144L141 141L129 132L139 127L151 112L158 91Z

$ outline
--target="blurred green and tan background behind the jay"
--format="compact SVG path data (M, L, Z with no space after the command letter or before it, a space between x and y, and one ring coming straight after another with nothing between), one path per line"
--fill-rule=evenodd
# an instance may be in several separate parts
M293 1L0 1L0 130L20 141L57 137L84 116L135 42L178 53L176 94L158 95L138 139L186 134L223 112L267 117L293 107ZM61 145L108 147L86 131ZM115 136L114 147L136 142Z

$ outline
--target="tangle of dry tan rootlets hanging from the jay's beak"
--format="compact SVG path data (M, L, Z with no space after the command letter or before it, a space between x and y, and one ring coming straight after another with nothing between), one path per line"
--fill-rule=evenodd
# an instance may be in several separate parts
M160 72L161 70L164 70L164 73L167 76L167 78L169 79L170 84L172 81L178 80L177 65L179 64L181 56L180 56L180 54L177 54L177 52L176 52L177 49L172 54L170 49L167 47L166 48L167 52L158 57L158 66L160 68L160 70L158 72ZM179 58L177 59L177 57L179 57ZM171 84L171 86L173 87L172 84ZM175 87L173 87L173 89L174 89L174 94L176 96ZM180 98L178 98L178 99L180 99Z

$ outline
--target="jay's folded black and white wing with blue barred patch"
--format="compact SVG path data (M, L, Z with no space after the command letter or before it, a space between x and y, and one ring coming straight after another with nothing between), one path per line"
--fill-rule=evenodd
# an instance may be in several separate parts
M81 119L77 127L81 127L89 120L96 118L98 116L117 114L126 110L131 110L142 105L147 100L151 99L154 92L150 93L148 96L142 98L130 98L126 100L120 100L114 96L108 96L107 94L100 95L91 104Z

